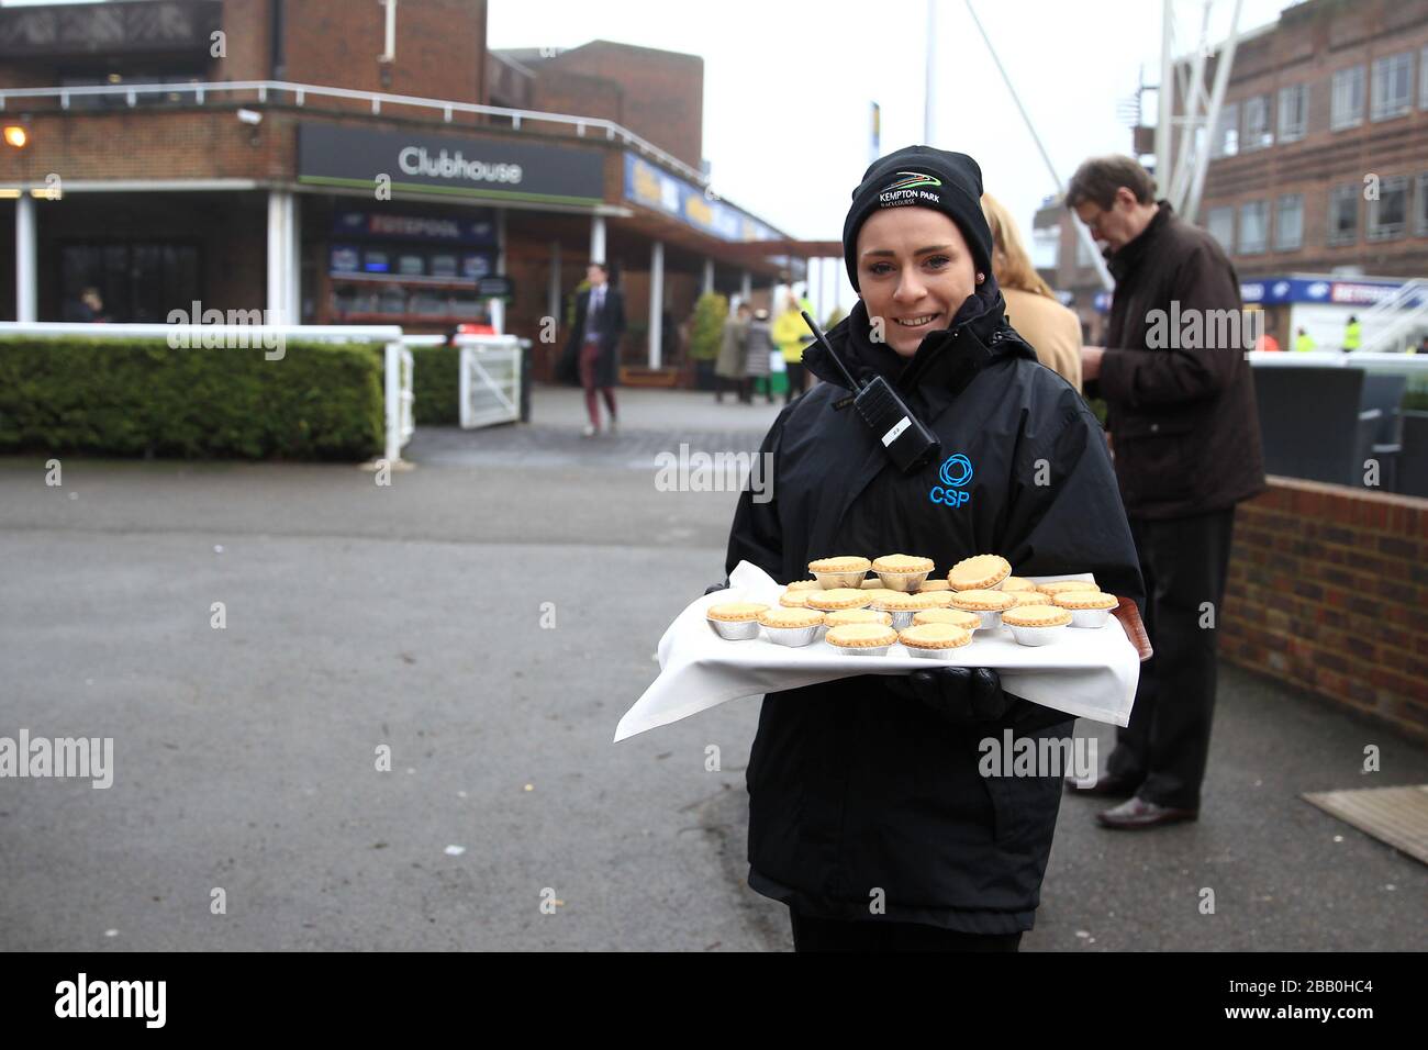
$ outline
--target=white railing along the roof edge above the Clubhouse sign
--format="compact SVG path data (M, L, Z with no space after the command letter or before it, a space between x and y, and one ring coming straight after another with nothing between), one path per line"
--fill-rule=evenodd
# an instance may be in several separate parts
M575 134L585 137L587 129L604 131L607 141L620 141L634 146L641 153L657 159L667 167L673 167L681 174L694 180L695 184L708 186L708 179L703 171L690 167L671 153L661 150L651 141L641 139L628 127L601 117L577 117L568 113L543 113L540 110L513 110L506 106L481 106L470 101L451 101L450 99L423 99L414 94L388 94L386 91L358 91L351 87L323 87L318 84L294 84L287 80L214 80L196 84L83 84L76 87L11 87L0 90L0 110L9 107L11 100L19 99L57 99L61 110L70 109L70 100L87 97L116 97L123 99L129 107L139 106L140 96L144 94L191 94L196 106L203 106L210 94L256 94L260 106L278 104L273 96L291 96L293 106L306 106L308 97L314 99L348 99L364 101L371 107L373 116L381 114L383 106L407 106L421 110L434 110L441 114L446 123L457 113L474 113L488 117L506 117L511 121L511 129L520 131L523 124L571 124Z

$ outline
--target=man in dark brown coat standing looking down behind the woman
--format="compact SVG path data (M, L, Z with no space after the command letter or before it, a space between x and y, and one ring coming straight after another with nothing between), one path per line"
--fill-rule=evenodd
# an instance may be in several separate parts
M1107 774L1071 790L1131 796L1098 814L1104 827L1157 827L1200 811L1235 504L1265 487L1244 356L1257 333L1225 253L1157 201L1130 157L1085 161L1067 207L1108 246L1115 277L1107 346L1084 347L1081 363L1107 403L1155 650Z

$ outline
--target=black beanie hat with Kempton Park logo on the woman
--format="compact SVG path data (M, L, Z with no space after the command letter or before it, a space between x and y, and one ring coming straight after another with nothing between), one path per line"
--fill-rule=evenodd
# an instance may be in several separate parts
M873 161L853 191L843 223L843 260L858 287L858 230L874 211L888 207L930 207L948 216L967 239L980 273L991 277L991 227L981 210L981 169L965 153L931 146L907 146Z

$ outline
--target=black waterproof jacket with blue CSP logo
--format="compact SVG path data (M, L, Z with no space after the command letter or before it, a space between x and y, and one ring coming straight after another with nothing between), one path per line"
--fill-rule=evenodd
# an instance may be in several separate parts
M991 284L991 281L988 281ZM828 339L860 380L878 373L942 441L904 476L858 420L821 347L820 380L764 440L773 499L740 497L725 571L775 580L808 561L890 553L938 571L998 553L1018 574L1092 571L1140 600L1141 579L1105 440L1081 396L1037 363L985 289L907 361L868 340L863 303ZM960 457L960 459L958 459ZM1030 930L1061 803L1061 777L982 777L984 737L1065 737L1074 720L1017 699L1005 719L955 726L855 676L764 697L748 760L750 886L830 919L885 917L967 933ZM878 894L881 890L881 894Z

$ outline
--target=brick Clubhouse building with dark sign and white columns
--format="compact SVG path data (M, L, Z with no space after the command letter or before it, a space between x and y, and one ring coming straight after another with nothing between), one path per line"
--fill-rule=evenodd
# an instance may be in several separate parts
M537 339L594 256L625 290L625 361L658 364L703 289L804 274L705 189L701 59L521 54L487 50L484 0L0 10L0 116L27 139L0 146L0 317L69 320L94 286L116 321L488 313ZM478 299L494 274L506 303Z

